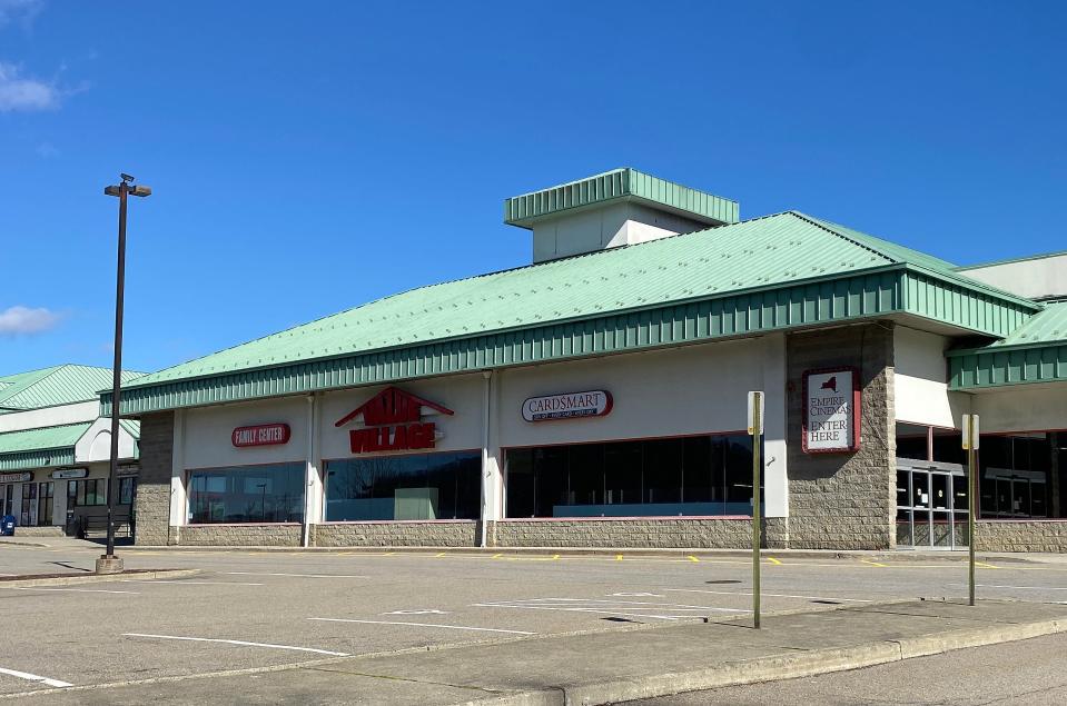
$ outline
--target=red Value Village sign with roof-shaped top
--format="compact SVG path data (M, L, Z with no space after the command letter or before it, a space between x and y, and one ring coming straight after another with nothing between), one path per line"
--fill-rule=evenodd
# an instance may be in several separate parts
M424 408L442 415L454 414L446 407L411 392L387 387L338 419L334 426L343 427L357 417L363 417L365 426L362 429L348 431L353 454L434 448L437 440L437 425L433 421L423 421Z

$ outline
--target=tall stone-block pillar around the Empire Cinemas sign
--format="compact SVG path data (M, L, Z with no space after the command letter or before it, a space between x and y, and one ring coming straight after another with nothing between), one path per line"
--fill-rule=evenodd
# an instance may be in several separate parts
M786 339L789 475L788 546L888 549L896 546L896 421L891 322L791 334ZM804 454L803 374L852 366L863 390L860 449Z

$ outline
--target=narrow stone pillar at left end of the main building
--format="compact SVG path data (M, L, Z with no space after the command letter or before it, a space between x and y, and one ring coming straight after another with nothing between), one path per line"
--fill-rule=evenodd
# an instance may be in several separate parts
M137 476L137 524L134 544L160 546L170 538L170 474L174 412L141 417L140 473Z

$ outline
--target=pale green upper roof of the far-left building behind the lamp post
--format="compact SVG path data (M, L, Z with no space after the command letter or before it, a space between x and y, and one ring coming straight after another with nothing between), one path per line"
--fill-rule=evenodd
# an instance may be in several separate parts
M142 375L124 370L122 384ZM0 376L0 414L98 399L110 385L111 369L91 366L62 365Z

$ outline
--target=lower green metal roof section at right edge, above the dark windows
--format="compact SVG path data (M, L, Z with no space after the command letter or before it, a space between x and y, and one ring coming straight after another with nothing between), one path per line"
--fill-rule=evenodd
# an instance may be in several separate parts
M946 355L954 390L1067 381L1067 301L1047 304L1001 340Z

